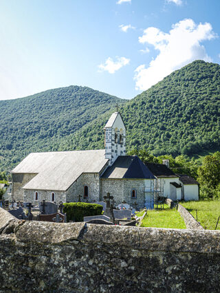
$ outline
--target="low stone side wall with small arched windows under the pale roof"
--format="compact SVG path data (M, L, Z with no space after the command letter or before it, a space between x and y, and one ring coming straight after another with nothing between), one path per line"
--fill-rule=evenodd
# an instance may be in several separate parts
M34 193L35 192L39 193L39 199L35 200ZM42 202L44 199L46 202L51 202L52 201L52 196L51 193L55 194L55 202L65 202L66 201L66 195L65 191L38 191L38 190L31 190L31 189L25 189L24 190L24 195L23 195L23 200L24 202L32 202L32 204L36 205L39 202Z

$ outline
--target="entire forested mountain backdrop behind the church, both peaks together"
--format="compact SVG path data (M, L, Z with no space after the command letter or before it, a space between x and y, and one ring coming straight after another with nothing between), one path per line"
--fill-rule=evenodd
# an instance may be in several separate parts
M195 61L122 100L88 87L64 87L0 101L0 171L31 151L102 149L118 103L127 149L198 155L219 149L220 65Z

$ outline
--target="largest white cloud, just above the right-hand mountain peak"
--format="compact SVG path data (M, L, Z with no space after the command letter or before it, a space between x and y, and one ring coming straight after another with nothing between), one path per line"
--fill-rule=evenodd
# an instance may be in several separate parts
M197 59L212 61L201 41L216 37L210 23L197 25L192 19L175 23L168 33L158 28L147 28L139 42L153 45L159 54L148 67L140 65L135 69L136 89L146 90L174 70Z

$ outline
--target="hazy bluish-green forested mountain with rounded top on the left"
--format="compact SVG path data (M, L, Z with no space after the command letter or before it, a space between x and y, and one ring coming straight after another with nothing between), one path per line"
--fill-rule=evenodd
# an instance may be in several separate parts
M62 138L124 102L78 86L0 100L0 171L11 169L30 152L61 150Z

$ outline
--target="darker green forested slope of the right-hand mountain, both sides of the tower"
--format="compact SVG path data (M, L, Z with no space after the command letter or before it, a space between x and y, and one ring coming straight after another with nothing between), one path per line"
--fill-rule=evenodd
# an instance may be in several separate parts
M219 148L220 65L195 61L173 72L123 107L127 149L154 155L197 155ZM103 146L104 114L62 142L76 149ZM97 139L102 135L102 140Z

